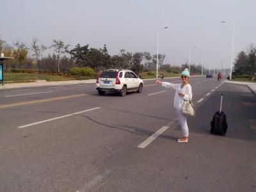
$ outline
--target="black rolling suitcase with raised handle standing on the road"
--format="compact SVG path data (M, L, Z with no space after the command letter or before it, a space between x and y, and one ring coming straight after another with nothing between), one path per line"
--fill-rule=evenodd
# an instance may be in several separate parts
M217 111L211 121L211 134L220 134L225 135L227 132L228 124L227 124L227 118L223 111L221 111L222 108L222 98L224 93L221 93L221 101L220 101L220 111Z

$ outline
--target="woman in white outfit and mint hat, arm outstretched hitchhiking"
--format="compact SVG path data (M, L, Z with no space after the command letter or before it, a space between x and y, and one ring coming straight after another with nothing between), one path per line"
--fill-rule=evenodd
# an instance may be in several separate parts
M175 97L174 97L174 108L177 114L177 118L179 120L179 125L181 127L181 131L183 134L183 138L177 140L179 143L188 143L188 124L187 118L182 113L180 113L180 108L184 102L184 100L192 100L192 88L191 85L188 83L189 79L189 72L188 68L181 73L181 83L168 83L168 82L161 82L157 79L156 83L161 84L166 88L174 88L176 90Z

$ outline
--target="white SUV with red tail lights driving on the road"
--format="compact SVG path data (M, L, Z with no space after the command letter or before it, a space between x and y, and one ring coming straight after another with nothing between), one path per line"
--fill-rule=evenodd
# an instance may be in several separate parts
M143 80L134 72L128 69L108 69L102 72L97 78L96 89L99 95L105 92L119 92L124 97L126 92L137 91L142 92Z

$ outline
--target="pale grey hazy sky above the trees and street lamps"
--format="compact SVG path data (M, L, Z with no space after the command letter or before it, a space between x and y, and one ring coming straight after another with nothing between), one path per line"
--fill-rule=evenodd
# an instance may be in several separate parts
M109 54L157 52L164 63L230 68L234 56L256 44L255 0L0 0L0 38L8 44L33 36L49 46L62 40ZM221 23L224 20L226 23ZM164 27L168 26L168 29ZM222 63L222 64L221 64Z

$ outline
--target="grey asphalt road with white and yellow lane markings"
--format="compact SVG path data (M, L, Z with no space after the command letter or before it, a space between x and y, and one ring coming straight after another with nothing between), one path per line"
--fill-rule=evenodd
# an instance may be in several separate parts
M175 141L174 90L154 81L125 97L94 84L1 90L0 191L256 191L255 95L215 78L189 83L188 143ZM228 131L215 136L221 92Z

